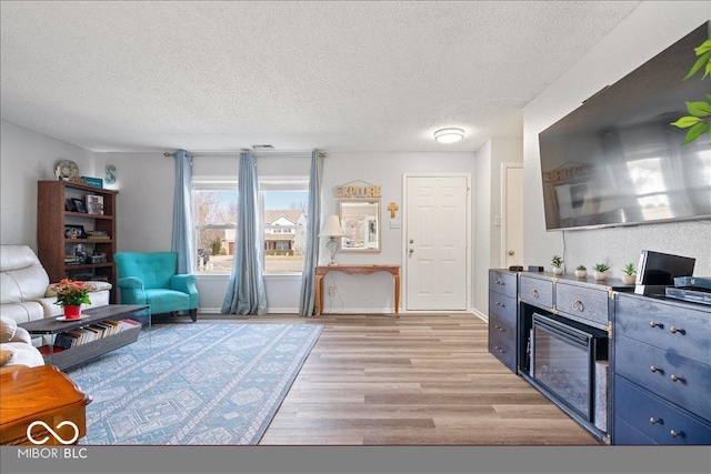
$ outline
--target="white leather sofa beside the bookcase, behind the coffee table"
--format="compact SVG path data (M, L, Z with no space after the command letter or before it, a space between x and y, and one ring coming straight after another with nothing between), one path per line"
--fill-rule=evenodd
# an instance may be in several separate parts
M109 304L110 283L87 283L93 286L89 293L91 304L82 307ZM62 309L54 304L57 296L50 286L47 271L32 249L0 245L0 315L18 324L61 315Z

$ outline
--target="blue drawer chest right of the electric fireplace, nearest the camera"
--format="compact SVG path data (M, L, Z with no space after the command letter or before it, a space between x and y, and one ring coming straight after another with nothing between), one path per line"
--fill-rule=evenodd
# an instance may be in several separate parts
M711 444L711 309L619 293L613 444Z

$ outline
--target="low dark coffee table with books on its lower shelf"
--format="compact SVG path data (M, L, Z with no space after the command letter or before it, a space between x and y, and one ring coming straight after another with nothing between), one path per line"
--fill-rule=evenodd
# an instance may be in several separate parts
M24 327L33 336L52 335L64 331L80 330L90 324L112 320L121 321L130 319L141 324L150 325L150 306L144 304L107 304L104 306L96 306L83 310L81 320L60 321L58 316L46 317L43 320L30 321L29 323L18 324ZM118 334L112 334L101 339L86 342L71 349L57 350L53 345L42 346L44 363L52 364L60 370L69 369L89 361L98 355L132 344L138 340L141 325L124 329ZM53 341L53 339L52 339Z

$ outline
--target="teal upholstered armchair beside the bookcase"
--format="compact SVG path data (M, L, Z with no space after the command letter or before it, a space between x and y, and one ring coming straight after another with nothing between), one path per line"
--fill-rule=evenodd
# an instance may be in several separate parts
M196 275L176 274L176 252L117 252L122 304L148 304L151 314L188 312L198 321Z

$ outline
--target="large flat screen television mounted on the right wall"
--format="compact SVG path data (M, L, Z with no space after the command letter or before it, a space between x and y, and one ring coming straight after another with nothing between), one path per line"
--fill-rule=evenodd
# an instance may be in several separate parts
M709 134L671 125L711 93L703 71L683 80L710 23L539 133L547 230L711 219Z

